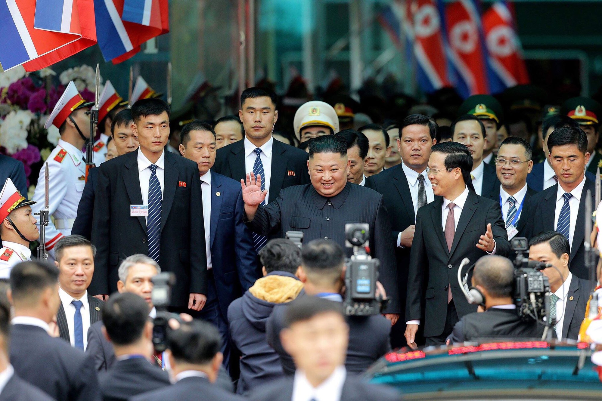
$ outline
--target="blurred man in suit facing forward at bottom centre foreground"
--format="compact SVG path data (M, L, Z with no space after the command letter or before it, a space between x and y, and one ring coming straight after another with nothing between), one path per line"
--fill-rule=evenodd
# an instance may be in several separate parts
M340 303L303 297L285 313L282 345L293 356L294 378L282 379L253 393L253 401L400 400L393 389L362 382L344 367L349 326Z

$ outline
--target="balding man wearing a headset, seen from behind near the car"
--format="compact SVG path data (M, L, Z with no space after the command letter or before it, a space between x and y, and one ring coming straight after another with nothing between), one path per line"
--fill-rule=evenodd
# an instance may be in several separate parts
M474 266L470 292L485 312L465 315L447 337L447 344L479 338L541 338L543 326L524 322L514 305L514 266L503 256L482 256ZM469 301L470 302L470 301Z

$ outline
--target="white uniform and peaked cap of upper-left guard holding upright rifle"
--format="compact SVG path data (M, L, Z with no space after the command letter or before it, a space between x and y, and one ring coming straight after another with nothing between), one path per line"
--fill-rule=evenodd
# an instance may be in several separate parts
M69 82L67 89L59 99L57 105L48 120L46 128L51 124L60 127L67 117L78 108L88 107L79 95L75 84ZM48 157L48 226L46 226L45 246L46 251L54 257L55 243L71 234L71 228L75 217L79 199L85 185L85 162L81 149L77 149L70 143L60 139L58 145ZM37 213L44 206L44 174L45 167L40 170L36 191L33 200L37 204L32 208ZM38 219L39 226L39 219Z

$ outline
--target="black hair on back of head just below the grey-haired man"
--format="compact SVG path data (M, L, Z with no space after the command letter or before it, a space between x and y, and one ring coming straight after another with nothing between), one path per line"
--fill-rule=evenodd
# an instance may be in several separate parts
M102 306L102 323L111 343L126 346L140 340L149 319L149 305L134 293L117 293Z

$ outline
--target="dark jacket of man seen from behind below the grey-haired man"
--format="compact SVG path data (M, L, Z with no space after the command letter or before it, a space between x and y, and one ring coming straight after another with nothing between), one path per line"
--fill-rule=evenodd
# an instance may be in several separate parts
M169 374L144 358L117 361L98 381L104 401L125 401L137 394L170 385Z

